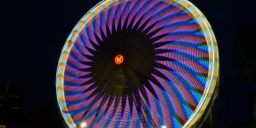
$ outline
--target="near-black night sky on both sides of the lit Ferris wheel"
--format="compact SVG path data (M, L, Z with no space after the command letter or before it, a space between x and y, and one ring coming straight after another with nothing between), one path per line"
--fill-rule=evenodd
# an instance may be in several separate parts
M12 86L23 90L22 113L28 118L43 109L58 111L55 72L61 49L73 26L99 1L1 2L0 84L10 79ZM251 89L236 32L255 28L255 4L238 0L190 2L207 16L218 41L221 86L213 118L224 127L244 122L250 117L247 106L251 103L245 99Z

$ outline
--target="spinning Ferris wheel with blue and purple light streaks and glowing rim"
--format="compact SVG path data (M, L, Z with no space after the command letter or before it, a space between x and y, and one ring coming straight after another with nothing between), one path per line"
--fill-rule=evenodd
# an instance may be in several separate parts
M107 0L67 38L56 90L70 127L190 127L217 79L216 39L192 3Z

